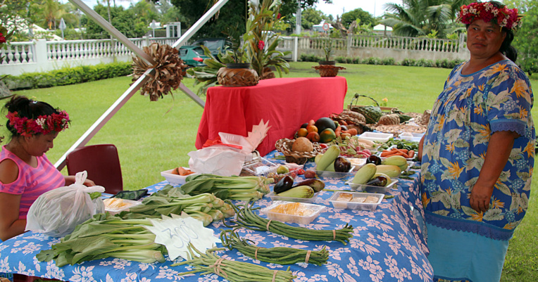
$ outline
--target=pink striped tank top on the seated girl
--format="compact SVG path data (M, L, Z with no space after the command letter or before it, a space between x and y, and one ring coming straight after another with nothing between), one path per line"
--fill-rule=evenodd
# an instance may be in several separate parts
M2 146L0 162L6 159L13 160L17 164L19 175L17 180L10 184L0 182L0 192L22 195L20 198L19 219L26 219L30 205L42 193L65 186L63 175L46 158L46 155L37 157L37 167L34 168L7 150L6 146Z

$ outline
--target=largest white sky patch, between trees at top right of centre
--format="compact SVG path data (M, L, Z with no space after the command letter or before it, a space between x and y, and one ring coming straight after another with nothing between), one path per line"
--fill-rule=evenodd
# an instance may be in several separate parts
M353 11L356 8L361 8L374 17L378 17L383 15L384 4L387 3L401 5L401 0L332 0L332 4L325 4L325 1L319 0L315 9L322 11L325 15L332 15L335 20L337 15L342 16L342 13Z

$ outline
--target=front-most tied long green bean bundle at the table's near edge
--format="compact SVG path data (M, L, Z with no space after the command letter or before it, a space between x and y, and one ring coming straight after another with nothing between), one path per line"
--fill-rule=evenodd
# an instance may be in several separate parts
M224 250L223 248L207 250L205 254L196 250L191 243L189 243L188 248L193 259L178 262L171 266L175 267L177 265L189 264L194 269L192 271L182 272L178 274L179 276L197 272L202 272L200 275L213 273L226 278L230 282L289 282L293 281L293 278L296 278L292 271L289 271L289 267L286 271L268 269L267 267L262 267L257 264L223 259L218 255L213 254L213 251ZM193 250L197 252L199 256L196 256Z

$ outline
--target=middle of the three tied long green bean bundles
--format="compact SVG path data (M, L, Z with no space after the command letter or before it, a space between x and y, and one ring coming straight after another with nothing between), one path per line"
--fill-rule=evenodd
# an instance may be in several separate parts
M251 245L249 242L240 238L237 233L232 230L223 230L220 232L220 241L230 250L236 249L247 257L269 262L272 264L294 264L297 262L306 262L315 265L327 263L329 251L321 250L301 250L296 248L275 247L261 248L256 245Z

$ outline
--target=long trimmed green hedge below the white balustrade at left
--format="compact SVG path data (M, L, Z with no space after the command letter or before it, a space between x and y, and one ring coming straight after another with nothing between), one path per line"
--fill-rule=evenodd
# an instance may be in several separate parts
M23 75L10 75L4 78L4 83L11 90L35 89L92 82L130 74L132 74L130 62L117 62L61 68L50 72L28 72Z

